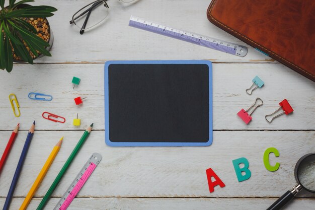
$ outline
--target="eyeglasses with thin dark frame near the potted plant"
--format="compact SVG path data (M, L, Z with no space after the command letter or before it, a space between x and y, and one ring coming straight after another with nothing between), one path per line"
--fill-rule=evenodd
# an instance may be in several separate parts
M83 34L85 30L91 29L100 24L107 16L109 7L106 3L107 0L98 0L85 6L81 10L77 11L70 20L70 24L76 25L80 28L80 34ZM119 0L120 2L129 4L136 0ZM93 13L92 13L93 12Z

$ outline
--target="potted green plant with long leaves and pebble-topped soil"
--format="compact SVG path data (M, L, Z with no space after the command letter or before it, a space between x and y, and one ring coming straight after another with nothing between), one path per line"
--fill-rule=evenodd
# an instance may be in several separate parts
M13 62L29 62L46 55L53 41L47 17L53 16L56 8L30 6L34 0L0 0L0 68L11 72ZM49 44L50 43L50 44Z

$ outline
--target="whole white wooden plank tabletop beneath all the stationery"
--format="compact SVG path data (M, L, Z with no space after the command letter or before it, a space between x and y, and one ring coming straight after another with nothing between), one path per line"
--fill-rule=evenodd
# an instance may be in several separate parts
M175 28L244 44L212 25L206 18L210 0L140 0L124 5L108 0L107 21L80 35L68 21L89 1L38 0L34 5L58 9L49 18L54 34L52 57L36 64L15 64L13 72L0 72L0 154L17 122L21 130L0 176L0 206L3 206L31 123L36 131L10 209L18 209L61 136L63 145L28 209L35 209L71 153L83 130L94 122L88 141L77 155L45 209L52 209L93 152L103 160L68 209L266 209L295 184L296 161L315 152L315 83L300 76L252 47L245 57L153 34L128 26L130 15ZM245 44L246 45L246 44ZM207 59L213 62L213 144L210 147L112 148L104 142L104 62L106 60ZM245 89L258 75L265 82L252 96ZM71 80L82 81L74 90ZM28 99L29 92L51 94L51 102ZM15 93L21 117L14 117L8 95ZM84 105L73 98L87 96ZM237 117L256 97L264 105L246 125ZM264 116L288 99L294 109L271 124ZM41 117L43 111L66 118L64 124ZM81 127L72 119L78 113ZM263 164L264 151L275 147L280 157L276 172ZM232 160L245 157L252 177L238 182ZM205 170L212 168L226 187L209 193ZM314 209L315 196L302 192L285 209Z

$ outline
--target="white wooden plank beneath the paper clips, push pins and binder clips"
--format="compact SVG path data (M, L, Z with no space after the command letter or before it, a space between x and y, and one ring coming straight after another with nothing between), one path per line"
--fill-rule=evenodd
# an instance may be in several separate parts
M25 69L27 68L27 69ZM27 70L27 71L24 71ZM245 90L258 75L265 85L249 96ZM81 78L79 86L72 89L72 77ZM14 79L13 79L14 78ZM0 80L10 81L0 92L0 113L6 123L0 129L12 129L18 121L21 129L29 129L29 123L38 121L36 129L84 129L91 121L95 129L104 129L104 64L36 64L16 65L11 74L2 74ZM315 83L284 67L282 64L229 63L213 64L213 129L267 129L307 130L314 129ZM34 101L29 92L53 96L51 102ZM13 115L9 94L15 93L21 106L21 117ZM75 105L74 98L87 97L82 105ZM237 113L249 108L257 97L264 101L246 125ZM290 115L283 115L272 123L265 115L277 110L279 102L287 99L294 109ZM43 119L48 111L66 118L66 122L55 123ZM72 125L78 113L82 126Z

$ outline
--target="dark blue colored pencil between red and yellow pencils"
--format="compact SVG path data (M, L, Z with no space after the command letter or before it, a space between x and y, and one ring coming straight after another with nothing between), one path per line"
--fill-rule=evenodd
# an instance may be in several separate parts
M13 176L13 179L12 179L12 183L11 183L11 186L10 186L10 189L9 189L9 192L8 192L7 199L6 199L6 202L5 202L3 210L9 210L10 203L11 203L11 200L12 200L12 197L13 197L13 193L14 193L15 187L17 186L17 183L18 183L18 180L19 180L19 176L21 174L22 167L23 167L26 155L27 155L27 151L28 151L28 149L29 149L29 147L31 145L32 137L33 137L33 134L34 134L34 129L35 129L35 120L34 120L32 126L31 126L28 134L27 134L26 141L25 141L25 144L24 144L21 156L20 156L20 160L19 160L17 169L15 170L15 173L14 173L14 176Z

